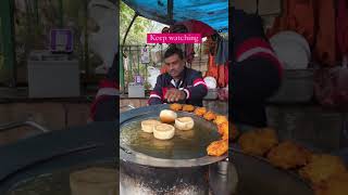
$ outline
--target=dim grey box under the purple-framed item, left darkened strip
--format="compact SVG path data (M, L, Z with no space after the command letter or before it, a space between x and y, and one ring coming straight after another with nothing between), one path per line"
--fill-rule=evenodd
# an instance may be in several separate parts
M53 54L29 56L29 98L79 96L78 61L55 56Z

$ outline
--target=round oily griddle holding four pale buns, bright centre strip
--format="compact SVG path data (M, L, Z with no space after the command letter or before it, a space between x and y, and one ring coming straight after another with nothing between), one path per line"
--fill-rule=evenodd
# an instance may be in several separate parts
M160 141L152 134L141 131L140 122L159 119L160 113L169 109L167 104L130 109L120 116L120 157L121 160L150 167L196 167L220 161L220 157L207 155L207 146L221 135L216 126L201 117L186 112L177 112L178 117L190 116L195 128L190 131L175 131L173 139Z

